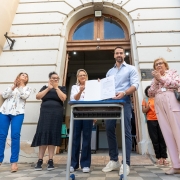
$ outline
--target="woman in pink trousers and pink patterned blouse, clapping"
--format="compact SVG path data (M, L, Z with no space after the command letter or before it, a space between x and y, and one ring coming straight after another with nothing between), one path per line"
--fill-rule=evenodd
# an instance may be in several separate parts
M180 102L174 95L180 87L180 76L176 70L169 70L163 58L156 59L153 68L148 94L155 97L156 115L172 161L166 174L180 174Z

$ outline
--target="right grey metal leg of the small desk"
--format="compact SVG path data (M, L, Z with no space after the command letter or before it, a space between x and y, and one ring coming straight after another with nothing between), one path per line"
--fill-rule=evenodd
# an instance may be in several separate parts
M123 158L123 175L124 180L127 180L126 172L126 143L125 143L125 127L124 127L124 107L121 107L121 130L122 130L122 158Z

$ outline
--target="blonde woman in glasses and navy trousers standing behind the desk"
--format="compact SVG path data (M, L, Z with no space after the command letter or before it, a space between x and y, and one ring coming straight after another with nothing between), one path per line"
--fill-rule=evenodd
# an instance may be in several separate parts
M77 83L72 86L70 100L83 101L85 95L85 82L88 80L87 72L84 69L77 71ZM91 134L93 120L75 120L73 130L73 144L70 172L79 168L79 151L82 133L82 150L80 165L84 173L90 171L91 166Z

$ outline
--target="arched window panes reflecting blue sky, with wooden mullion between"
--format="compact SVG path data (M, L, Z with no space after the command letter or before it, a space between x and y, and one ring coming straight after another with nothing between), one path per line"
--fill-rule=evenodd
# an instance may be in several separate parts
M89 16L74 26L71 40L124 40L126 39L124 29L126 30L125 26L117 18Z

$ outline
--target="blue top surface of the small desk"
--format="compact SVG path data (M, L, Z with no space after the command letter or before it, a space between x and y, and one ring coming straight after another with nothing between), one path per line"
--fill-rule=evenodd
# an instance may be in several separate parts
M69 101L68 104L125 104L126 101L122 99L106 99L101 101Z

